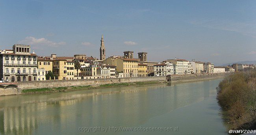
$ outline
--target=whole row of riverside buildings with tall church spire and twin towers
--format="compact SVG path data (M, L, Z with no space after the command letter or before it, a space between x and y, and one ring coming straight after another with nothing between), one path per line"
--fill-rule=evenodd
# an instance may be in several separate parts
M0 78L7 82L43 81L52 72L50 80L76 80L96 78L127 78L167 76L173 74L202 74L239 72L255 65L233 64L216 67L213 63L167 59L162 62L147 60L147 52L139 52L134 58L133 51L124 51L123 56L106 58L104 37L100 40L100 59L75 54L74 57L37 56L30 45L14 44L12 50L0 50Z

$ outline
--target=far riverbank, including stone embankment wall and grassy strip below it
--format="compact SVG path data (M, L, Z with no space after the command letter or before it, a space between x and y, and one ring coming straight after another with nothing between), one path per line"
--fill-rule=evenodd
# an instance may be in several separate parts
M72 91L78 89L98 89L105 87L122 87L130 85L144 85L156 82L198 81L224 78L226 73L189 74L171 76L149 76L133 78L106 78L106 79L82 79L82 80L47 80L24 81L17 85L0 87L0 96L13 94L48 93L58 91ZM1 84L0 84L1 85ZM38 91L38 92L36 92Z

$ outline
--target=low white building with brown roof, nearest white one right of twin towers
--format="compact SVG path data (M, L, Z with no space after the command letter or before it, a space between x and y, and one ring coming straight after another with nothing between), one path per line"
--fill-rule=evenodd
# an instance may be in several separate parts
M167 76L174 74L173 63L161 63L154 65L154 76Z

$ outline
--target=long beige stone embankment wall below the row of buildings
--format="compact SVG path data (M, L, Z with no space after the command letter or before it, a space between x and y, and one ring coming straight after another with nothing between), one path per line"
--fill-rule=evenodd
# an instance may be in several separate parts
M70 86L87 86L87 85L101 85L109 83L130 83L141 81L193 81L205 80L214 78L223 78L225 73L215 74L190 74L190 75L172 75L172 76L150 76L150 77L136 77L136 78L108 78L108 79L84 79L84 80L48 80L48 81L24 81L18 82L17 88L0 88L0 95L21 94L23 89L36 88L57 88Z

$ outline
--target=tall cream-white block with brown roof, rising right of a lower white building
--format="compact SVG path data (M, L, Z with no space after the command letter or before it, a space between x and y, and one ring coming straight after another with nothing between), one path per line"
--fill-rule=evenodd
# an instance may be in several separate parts
M173 63L174 74L190 74L189 61L186 59L167 59L166 61Z

